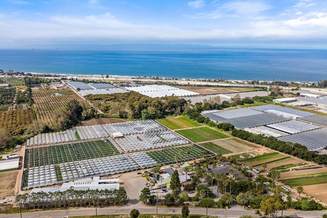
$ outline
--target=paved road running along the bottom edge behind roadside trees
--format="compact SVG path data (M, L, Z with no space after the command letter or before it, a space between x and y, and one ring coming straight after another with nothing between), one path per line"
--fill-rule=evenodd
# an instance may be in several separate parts
M156 214L155 207L142 207L136 208L140 213L145 214ZM173 212L173 209L175 212ZM129 214L131 211L130 208L125 207L107 207L107 208L97 208L98 214ZM181 214L180 208L158 208L159 214ZM291 216L291 217L306 217L306 218L321 218L322 215L326 213L326 211L284 211L283 216ZM76 216L76 215L95 215L95 208L74 208L69 210L47 210L47 211L39 211L39 212L31 212L31 213L22 213L22 217L53 217L53 218L62 218L64 216ZM190 208L190 214L206 214L206 208ZM252 215L254 211L252 210L224 210L224 209L208 209L208 215L215 215L219 218L237 218L242 215ZM278 213L281 215L281 212ZM9 217L20 217L19 213L16 214L3 214L0 215L2 218Z

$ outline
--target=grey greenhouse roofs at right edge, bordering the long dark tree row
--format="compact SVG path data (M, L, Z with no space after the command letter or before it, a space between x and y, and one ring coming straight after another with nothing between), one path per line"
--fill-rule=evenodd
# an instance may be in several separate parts
M283 136L278 139L299 143L302 146L306 146L309 151L319 151L327 147L327 128Z

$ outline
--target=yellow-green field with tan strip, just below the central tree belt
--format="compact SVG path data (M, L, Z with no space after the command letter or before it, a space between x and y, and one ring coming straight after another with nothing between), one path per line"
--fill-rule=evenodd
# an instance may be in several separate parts
M169 119L158 119L157 122L171 130L202 126L201 124L190 119L187 116L178 117L178 118L169 118Z

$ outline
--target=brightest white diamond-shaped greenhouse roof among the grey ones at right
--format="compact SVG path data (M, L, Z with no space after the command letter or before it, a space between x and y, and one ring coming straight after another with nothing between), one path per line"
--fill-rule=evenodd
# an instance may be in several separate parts
M319 126L300 122L298 120L289 120L286 122L269 124L269 125L267 125L267 127L270 127L270 128L276 129L276 130L281 130L283 132L287 132L290 134L295 134L295 133L299 133L299 132L305 132L308 130L314 130L314 129L320 128Z

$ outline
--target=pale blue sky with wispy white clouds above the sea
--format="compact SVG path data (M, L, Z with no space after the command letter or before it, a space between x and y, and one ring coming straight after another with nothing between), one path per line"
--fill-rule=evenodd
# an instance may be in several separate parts
M0 0L0 49L112 44L327 49L327 1Z

